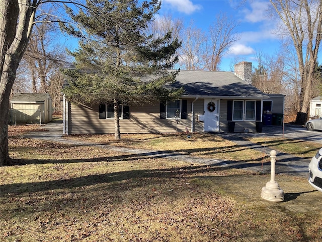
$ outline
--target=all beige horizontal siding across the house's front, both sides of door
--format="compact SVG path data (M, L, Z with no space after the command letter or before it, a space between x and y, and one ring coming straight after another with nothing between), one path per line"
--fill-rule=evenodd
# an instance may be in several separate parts
M191 132L191 105L195 99L187 101L187 119L161 119L159 103L144 104L143 106L130 106L130 119L120 119L120 132L130 133L174 133ZM227 100L218 100L219 106L219 132L228 132ZM114 119L99 119L98 105L89 107L71 104L69 112L69 134L113 134ZM204 99L194 102L194 131L203 132L204 122L198 121L198 115L204 114ZM233 121L234 132L256 132L255 121Z

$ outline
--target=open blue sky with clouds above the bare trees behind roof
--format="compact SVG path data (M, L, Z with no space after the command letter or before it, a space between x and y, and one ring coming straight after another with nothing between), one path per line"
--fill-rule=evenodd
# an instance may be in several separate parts
M220 12L239 21L237 32L240 40L231 47L230 54L223 57L220 66L220 70L230 71L231 59L235 56L240 61L253 62L253 66L257 66L256 51L273 55L280 46L278 36L273 34L276 21L267 16L269 1L242 3L241 0L162 0L160 15L171 14L173 18L184 19L185 24L194 20L196 27L204 31L214 23Z

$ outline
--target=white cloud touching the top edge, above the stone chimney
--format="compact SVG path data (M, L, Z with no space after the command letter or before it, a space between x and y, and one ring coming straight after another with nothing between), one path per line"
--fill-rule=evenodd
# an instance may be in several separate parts
M268 19L268 1L254 1L250 4L251 9L243 9L240 12L245 15L245 20L251 23L258 23Z

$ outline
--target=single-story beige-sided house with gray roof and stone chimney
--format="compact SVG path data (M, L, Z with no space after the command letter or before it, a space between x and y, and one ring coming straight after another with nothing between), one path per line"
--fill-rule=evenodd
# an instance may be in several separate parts
M184 71L175 87L184 87L180 100L167 104L120 108L121 133L261 132L264 101L274 110L274 97L252 86L252 63L241 62L232 72ZM281 98L282 97L282 98ZM274 110L283 113L284 96ZM267 108L267 107L266 107ZM177 116L176 118L176 111ZM114 113L109 105L76 105L64 97L64 134L114 133Z

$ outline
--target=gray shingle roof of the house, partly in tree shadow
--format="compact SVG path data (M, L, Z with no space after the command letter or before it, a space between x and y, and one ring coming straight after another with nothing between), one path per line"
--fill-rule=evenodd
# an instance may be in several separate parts
M181 70L173 87L184 86L184 96L267 98L268 96L231 72Z

